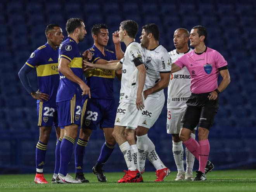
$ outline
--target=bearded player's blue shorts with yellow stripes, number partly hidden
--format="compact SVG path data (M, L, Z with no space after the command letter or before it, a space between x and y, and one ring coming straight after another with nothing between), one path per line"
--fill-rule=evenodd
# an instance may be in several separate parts
M81 95L74 95L71 100L57 102L59 126L69 126L71 124L80 125L81 117Z

